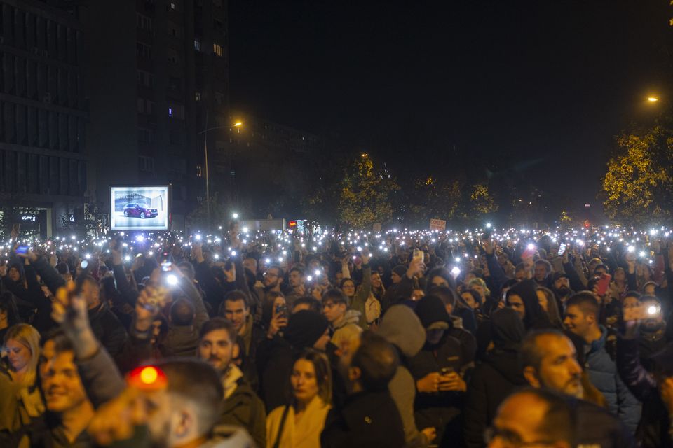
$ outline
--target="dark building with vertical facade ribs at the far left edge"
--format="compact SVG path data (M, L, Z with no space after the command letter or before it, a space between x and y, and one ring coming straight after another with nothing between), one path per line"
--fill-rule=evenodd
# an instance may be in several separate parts
M82 29L50 3L0 1L0 220L42 237L88 194Z

